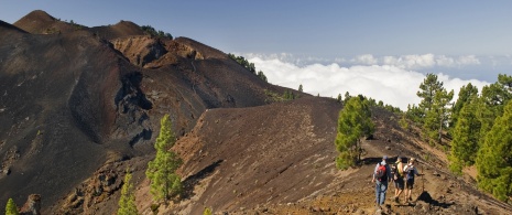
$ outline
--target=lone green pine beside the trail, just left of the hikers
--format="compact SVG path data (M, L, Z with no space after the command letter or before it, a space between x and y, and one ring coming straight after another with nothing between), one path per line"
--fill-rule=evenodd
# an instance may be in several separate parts
M339 152L336 166L346 170L359 162L361 155L360 138L374 131L368 104L360 97L351 97L338 117L336 150Z

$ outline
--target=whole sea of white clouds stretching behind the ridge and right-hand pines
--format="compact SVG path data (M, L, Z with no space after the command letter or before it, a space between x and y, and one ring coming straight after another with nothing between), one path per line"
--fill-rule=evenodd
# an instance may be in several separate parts
M407 105L418 104L416 96L420 84L427 73L436 74L447 90L454 89L457 99L460 87L471 83L479 90L490 83L479 79L461 79L448 74L428 72L429 68L457 69L479 66L480 60L473 55L449 57L445 55L381 56L360 55L350 58L323 60L296 57L292 54L239 54L254 63L257 71L263 71L269 83L298 89L312 95L336 98L348 92L350 95L364 95L384 104L407 109ZM427 72L425 72L427 71Z

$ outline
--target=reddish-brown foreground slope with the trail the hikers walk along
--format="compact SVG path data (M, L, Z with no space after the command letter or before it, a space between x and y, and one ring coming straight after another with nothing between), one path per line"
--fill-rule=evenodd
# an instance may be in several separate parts
M363 164L337 170L334 140L340 109L334 99L311 97L206 111L175 146L185 160L186 200L161 207L161 214L200 214L205 207L229 214L371 214L375 211L371 172L383 154L394 157L391 162L397 154L417 158L418 170L425 173L416 183L415 203L389 201L391 214L512 209L478 192L472 182L451 175L442 152L401 129L394 115L379 108L372 111L378 126L374 139L363 141ZM138 195L144 213L149 213L146 186L141 183ZM393 192L390 187L388 196Z

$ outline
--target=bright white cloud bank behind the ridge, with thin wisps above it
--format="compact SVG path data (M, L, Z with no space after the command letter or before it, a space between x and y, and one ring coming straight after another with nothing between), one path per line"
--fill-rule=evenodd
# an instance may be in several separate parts
M371 55L364 55L359 60L360 63L371 63L374 58ZM475 63L471 57L464 60ZM461 62L460 58L451 62L448 57L435 57L434 55L389 57L385 61L390 65L352 65L349 67L339 66L337 63L297 66L279 58L260 56L248 57L248 61L254 63L258 71L263 71L269 82L275 85L297 89L302 84L304 92L326 97L337 97L338 94L345 95L346 92L350 95L362 94L375 100L382 100L384 104L400 107L402 110L406 110L408 104L420 103L421 99L416 96L416 92L425 78L424 74L404 67L439 64L437 61L446 65ZM437 75L445 88L454 89L454 101L462 85L471 82L481 89L482 86L489 84L477 79L450 78L442 73Z

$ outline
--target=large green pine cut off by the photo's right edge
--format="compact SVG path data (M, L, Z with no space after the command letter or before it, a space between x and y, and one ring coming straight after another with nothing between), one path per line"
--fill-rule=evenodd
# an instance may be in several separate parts
M478 186L498 200L512 196L512 101L504 107L478 151Z

